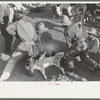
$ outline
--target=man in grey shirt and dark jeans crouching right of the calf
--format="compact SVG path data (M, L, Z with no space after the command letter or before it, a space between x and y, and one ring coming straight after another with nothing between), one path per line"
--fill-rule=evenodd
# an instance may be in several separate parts
M100 65L88 57L88 46L84 34L80 31L77 25L70 24L65 31L65 39L68 49L65 52L64 59L66 58L67 61L64 61L62 66L66 67L66 64L68 64L68 70L73 72L75 67L74 58L79 55L85 64L96 71L100 71ZM61 62L63 62L63 59Z

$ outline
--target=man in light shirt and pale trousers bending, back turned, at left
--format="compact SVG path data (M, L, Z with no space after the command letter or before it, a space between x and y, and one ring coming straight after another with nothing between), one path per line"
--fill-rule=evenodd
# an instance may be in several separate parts
M37 40L37 35L33 26L19 14L17 14L15 18L16 22L9 25L7 27L7 31L11 35L17 34L22 42L17 46L16 50L12 53L8 60L0 78L1 81L7 80L10 77L16 63L23 58L24 55L33 55L34 42Z

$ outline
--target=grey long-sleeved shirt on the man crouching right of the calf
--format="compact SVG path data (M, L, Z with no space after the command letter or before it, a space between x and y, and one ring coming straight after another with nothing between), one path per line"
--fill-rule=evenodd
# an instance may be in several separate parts
M83 32L80 31L79 27L75 24L71 25L65 32L65 39L68 48L73 47L75 44L85 40ZM76 46L77 46L76 45ZM84 46L86 44L83 44ZM86 47L84 47L86 48Z

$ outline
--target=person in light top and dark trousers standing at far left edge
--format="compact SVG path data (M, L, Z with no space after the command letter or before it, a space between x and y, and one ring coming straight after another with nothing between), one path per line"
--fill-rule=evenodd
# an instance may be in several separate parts
M12 17L10 17L11 14L9 4L0 4L0 30L5 39L4 49L6 53L11 52L12 36L6 31L6 27L8 26L9 21L12 19Z

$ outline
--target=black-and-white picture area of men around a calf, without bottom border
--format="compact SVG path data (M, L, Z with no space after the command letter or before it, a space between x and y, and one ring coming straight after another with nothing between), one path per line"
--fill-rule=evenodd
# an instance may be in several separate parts
M99 2L0 2L0 84L99 81Z

